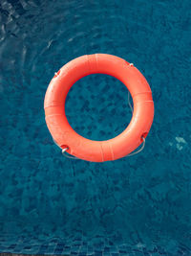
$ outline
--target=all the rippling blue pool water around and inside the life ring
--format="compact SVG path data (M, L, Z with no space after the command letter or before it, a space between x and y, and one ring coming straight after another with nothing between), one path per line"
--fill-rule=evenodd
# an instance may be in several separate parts
M191 255L190 28L190 0L1 1L0 252ZM66 159L46 127L54 72L94 53L133 62L151 86L155 119L136 156ZM67 117L109 139L131 119L127 99L120 81L90 76Z

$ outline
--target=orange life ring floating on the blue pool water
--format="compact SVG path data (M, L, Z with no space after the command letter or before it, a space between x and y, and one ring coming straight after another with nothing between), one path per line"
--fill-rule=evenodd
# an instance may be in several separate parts
M93 141L77 134L65 114L65 100L75 81L90 74L107 74L122 81L131 93L134 112L129 126L117 137ZM123 58L112 55L87 55L68 62L55 73L44 102L47 126L55 143L87 161L116 160L136 150L146 137L154 118L151 88L138 69Z

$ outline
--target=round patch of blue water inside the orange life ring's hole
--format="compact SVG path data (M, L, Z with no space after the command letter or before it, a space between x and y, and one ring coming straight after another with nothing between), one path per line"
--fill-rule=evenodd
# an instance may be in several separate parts
M127 87L105 74L76 81L67 95L65 112L78 134L98 141L116 137L132 118Z

